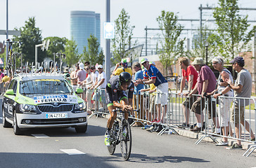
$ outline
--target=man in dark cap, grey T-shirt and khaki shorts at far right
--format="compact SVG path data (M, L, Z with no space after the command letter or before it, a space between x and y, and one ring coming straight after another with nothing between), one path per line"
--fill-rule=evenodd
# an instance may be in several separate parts
M252 94L252 76L247 69L244 69L245 61L243 57L235 57L231 62L234 70L238 72L236 83L232 83L230 79L225 79L229 84L229 87L235 91L235 97L249 97ZM244 118L245 106L249 104L249 99L235 99L235 103L232 106L231 118L235 123L236 132L236 144L233 144L232 148L242 148L241 141L241 126L240 123L245 127L245 130L250 132L250 140L255 141L255 135L250 129L249 123Z

